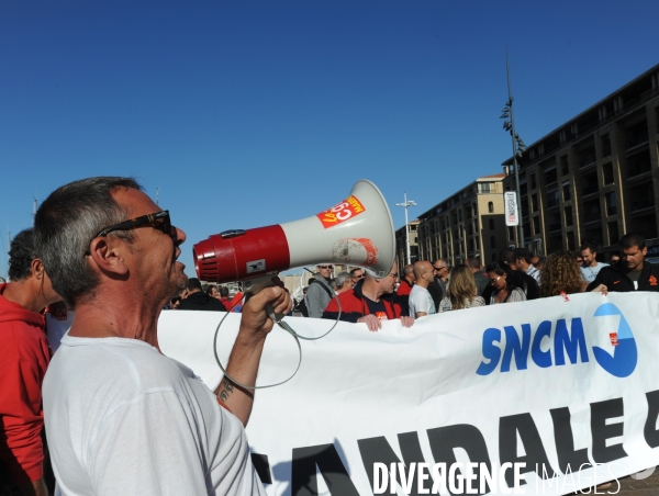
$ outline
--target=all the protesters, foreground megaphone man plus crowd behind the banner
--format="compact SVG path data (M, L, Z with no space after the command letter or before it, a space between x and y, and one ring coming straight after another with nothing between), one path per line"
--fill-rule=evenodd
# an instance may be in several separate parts
M266 308L290 315L293 302L277 285L247 300L188 279L177 261L185 240L127 178L57 189L14 237L10 282L0 283L0 496L52 493L46 446L63 495L265 494L244 431L249 387L273 325ZM321 264L297 308L377 331L383 320L410 328L436 313L538 297L659 291L646 252L627 234L610 264L592 245L579 257L505 249L488 267L437 259L399 273L394 262L384 277L356 268L332 279ZM160 353L164 307L242 313L215 391Z

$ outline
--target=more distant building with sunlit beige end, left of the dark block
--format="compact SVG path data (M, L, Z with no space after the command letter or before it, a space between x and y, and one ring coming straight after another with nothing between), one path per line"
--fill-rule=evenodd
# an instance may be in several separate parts
M445 258L451 266L496 260L506 247L504 173L478 178L418 216L418 259Z

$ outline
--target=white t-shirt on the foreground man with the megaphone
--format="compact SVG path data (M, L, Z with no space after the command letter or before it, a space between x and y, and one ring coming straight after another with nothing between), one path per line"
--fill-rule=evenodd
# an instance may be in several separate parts
M64 336L43 386L56 495L263 495L243 425L136 339Z

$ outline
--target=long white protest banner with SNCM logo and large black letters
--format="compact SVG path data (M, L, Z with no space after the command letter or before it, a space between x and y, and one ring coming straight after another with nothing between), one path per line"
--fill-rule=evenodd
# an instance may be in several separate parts
M159 322L163 352L211 388L220 315ZM238 322L230 315L220 330L223 360ZM287 322L302 335L331 326ZM570 494L659 464L655 293L462 309L379 332L342 323L302 351L290 382L257 391L247 427L271 496ZM297 360L276 328L259 384L286 379Z

